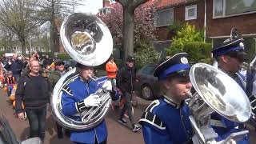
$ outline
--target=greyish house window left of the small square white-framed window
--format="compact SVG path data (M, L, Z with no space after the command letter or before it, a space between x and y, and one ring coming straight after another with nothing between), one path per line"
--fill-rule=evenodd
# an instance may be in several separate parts
M169 26L174 23L174 9L158 10L154 15L156 27Z

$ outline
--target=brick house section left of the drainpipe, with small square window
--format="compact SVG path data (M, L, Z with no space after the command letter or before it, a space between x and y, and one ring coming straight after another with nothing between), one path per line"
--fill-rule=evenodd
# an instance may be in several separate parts
M204 2L160 0L154 19L159 41L170 40L174 37L174 34L169 30L169 26L174 24L174 22L188 22L198 29L203 29Z

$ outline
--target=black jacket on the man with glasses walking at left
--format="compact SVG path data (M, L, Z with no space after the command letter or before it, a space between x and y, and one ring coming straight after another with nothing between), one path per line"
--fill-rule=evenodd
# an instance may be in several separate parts
M40 109L50 102L50 86L45 78L39 76L23 75L18 80L15 93L16 113L22 112L22 102L26 109Z

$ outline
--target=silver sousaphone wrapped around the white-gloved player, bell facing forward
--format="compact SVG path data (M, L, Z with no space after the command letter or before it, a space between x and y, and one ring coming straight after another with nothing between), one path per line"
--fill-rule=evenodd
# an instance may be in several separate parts
M113 40L110 30L92 14L71 14L62 22L60 36L66 52L82 65L101 65L112 54ZM50 106L54 119L60 125L71 130L88 130L102 122L110 106L110 94L99 89L96 93L102 99L100 106L91 107L79 114L82 122L65 116L62 114L62 89L78 78L78 73L74 68L58 80L54 86Z

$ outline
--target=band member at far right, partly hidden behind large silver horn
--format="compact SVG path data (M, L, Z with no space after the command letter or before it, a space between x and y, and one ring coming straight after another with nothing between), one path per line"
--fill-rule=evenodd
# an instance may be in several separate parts
M212 50L213 56L218 62L218 69L222 70L238 82L239 86L245 90L242 85L242 79L238 76L242 62L245 61L246 53L244 52L244 40L242 38L230 38ZM235 95L234 95L235 97ZM220 114L214 113L210 116L210 124L218 134L216 141L221 141L227 138L231 133L242 131L238 128L238 122L232 122L227 118L222 117ZM237 142L249 143L249 135Z

